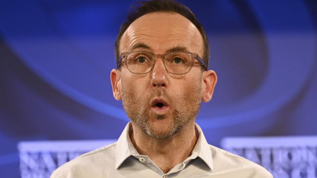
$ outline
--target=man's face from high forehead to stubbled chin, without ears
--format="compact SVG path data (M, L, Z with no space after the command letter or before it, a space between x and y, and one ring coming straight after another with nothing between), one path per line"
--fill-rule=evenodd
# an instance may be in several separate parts
M176 13L151 13L135 20L120 40L120 53L166 53L173 48L203 54L203 40L193 23ZM124 61L123 61L124 63ZM135 74L122 65L118 95L131 121L149 137L167 139L194 120L204 85L198 61L186 74L166 71L161 58L146 74Z

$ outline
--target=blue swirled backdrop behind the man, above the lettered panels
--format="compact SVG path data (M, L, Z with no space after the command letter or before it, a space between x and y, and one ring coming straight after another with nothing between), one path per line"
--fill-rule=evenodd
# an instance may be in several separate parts
M0 174L19 141L117 139L114 42L133 1L0 1ZM197 117L208 142L317 135L316 0L180 0L204 26L218 74Z

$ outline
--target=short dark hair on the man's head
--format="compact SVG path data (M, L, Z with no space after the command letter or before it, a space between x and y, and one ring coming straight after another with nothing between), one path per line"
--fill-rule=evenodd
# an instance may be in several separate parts
M203 43L204 43L204 53L202 59L207 65L208 69L208 61L209 61L209 45L208 39L206 36L206 32L203 29L202 25L194 15L194 13L185 5L175 2L174 0L150 0L150 1L139 1L137 2L138 6L134 7L133 11L128 14L128 17L125 22L121 24L119 34L117 36L117 40L115 43L115 55L116 55L116 63L119 60L119 44L120 39L123 33L127 30L127 28L134 22L137 18L144 16L153 12L175 12L177 14L182 15L183 17L190 20L196 28L199 30Z

